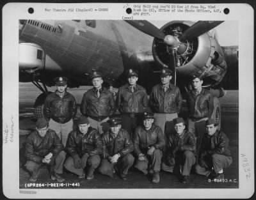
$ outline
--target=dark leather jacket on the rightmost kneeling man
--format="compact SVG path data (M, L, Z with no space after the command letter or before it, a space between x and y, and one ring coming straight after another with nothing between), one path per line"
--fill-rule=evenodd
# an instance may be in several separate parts
M220 130L216 130L213 135L204 134L199 157L202 158L202 153L204 153L204 155L218 153L230 157L231 153L228 143L229 139L227 135Z

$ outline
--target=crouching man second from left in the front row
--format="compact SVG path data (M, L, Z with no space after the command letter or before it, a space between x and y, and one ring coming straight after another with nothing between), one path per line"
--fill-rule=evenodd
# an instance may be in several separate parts
M88 118L81 116L77 121L77 129L70 132L67 140L67 158L64 166L78 178L92 180L93 173L100 164L102 139L99 132L90 127ZM84 171L85 168L85 171Z

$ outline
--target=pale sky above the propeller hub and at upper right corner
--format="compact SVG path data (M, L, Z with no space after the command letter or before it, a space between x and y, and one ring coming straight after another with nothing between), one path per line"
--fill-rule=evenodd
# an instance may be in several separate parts
M157 27L161 27L168 21L151 21ZM218 35L218 41L221 46L238 45L238 22L225 21L215 27Z

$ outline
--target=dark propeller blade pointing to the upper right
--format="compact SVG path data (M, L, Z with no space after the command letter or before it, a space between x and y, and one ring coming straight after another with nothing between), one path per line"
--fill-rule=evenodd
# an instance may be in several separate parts
M191 27L186 29L184 33L179 36L180 41L188 40L189 38L194 38L210 31L214 27L220 25L224 21L198 21Z

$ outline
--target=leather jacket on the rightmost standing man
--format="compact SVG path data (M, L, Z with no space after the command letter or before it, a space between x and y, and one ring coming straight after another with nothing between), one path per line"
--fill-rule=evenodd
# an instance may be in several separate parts
M211 118L212 111L214 109L213 97L211 93L202 88L202 91L196 96L194 90L188 92L187 98L189 118Z

